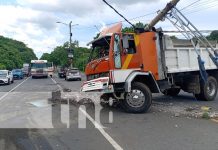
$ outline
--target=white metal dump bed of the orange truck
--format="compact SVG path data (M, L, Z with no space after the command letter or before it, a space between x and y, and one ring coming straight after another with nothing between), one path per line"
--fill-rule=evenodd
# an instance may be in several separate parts
M216 51L218 51L217 42L211 42ZM205 47L200 45L200 53L205 62L206 70L217 69L216 65L210 59ZM197 54L188 40L171 39L169 36L163 38L163 65L167 73L180 73L199 71Z

